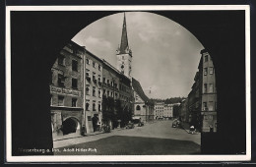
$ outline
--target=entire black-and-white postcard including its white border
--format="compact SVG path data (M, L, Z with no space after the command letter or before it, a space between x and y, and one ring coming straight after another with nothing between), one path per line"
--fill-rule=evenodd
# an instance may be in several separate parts
M249 14L7 6L7 161L250 160Z

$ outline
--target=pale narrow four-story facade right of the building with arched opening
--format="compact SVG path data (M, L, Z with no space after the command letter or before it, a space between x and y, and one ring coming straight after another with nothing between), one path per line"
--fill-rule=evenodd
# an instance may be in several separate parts
M86 73L86 127L87 133L94 132L93 119L97 117L101 125L102 112L102 61L96 55L86 50L85 73Z

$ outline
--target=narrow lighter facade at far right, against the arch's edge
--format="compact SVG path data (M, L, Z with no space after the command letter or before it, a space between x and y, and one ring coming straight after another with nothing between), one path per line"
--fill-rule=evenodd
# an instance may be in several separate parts
M217 132L217 91L215 69L211 56L201 51L199 71L202 74L202 132Z

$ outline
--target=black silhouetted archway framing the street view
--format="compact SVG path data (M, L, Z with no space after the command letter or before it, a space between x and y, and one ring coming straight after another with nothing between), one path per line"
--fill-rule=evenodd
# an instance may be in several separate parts
M18 151L21 147L52 147L48 93L50 68L59 50L78 31L97 19L117 12L12 12L13 155L21 154ZM219 129L218 136L209 143L203 139L202 149L206 153L210 150L223 154L244 152L244 11L154 13L189 29L213 57L216 67Z

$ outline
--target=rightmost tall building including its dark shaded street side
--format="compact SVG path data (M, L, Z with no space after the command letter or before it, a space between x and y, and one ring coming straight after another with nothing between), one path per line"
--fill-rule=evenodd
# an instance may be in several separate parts
M190 125L203 133L217 132L217 91L214 64L209 53L201 51L192 89L187 98Z

